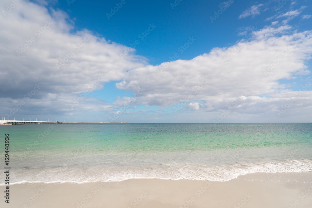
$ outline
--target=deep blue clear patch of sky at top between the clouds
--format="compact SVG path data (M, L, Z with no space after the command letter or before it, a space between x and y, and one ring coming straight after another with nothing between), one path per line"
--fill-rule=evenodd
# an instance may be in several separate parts
M224 1L187 1L183 0L176 7L171 7L174 1L125 1L126 3L108 19L106 13L116 7L119 1L94 1L85 3L75 1L68 5L66 1L59 1L55 9L66 11L70 19L75 19L75 29L89 29L116 43L130 46L139 39L139 34L148 29L149 24L157 27L136 45L137 54L149 58L149 63L156 65L169 60L178 52L189 36L196 41L180 59L193 59L209 52L214 47L227 47L241 39L238 33L245 31L245 27L263 28L270 21L266 18L275 14L272 8L278 2L271 1L234 1L213 23L210 16L214 16ZM269 4L266 11L255 17L238 19L241 13L255 4ZM306 1L306 4L310 2ZM305 4L305 5L306 5ZM279 13L287 11L290 3ZM263 10L262 8L261 10ZM310 14L311 8L306 8L303 14ZM300 30L310 29L310 21L293 21Z

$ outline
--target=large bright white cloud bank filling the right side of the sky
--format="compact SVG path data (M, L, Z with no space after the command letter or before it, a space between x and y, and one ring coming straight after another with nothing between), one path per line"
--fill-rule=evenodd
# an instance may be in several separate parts
M233 106L234 110L250 109L246 112L256 113L269 109L267 112L272 112L278 103L284 102L280 94L287 92L286 86L278 80L310 73L305 63L311 58L312 33L289 34L290 31L290 26L265 27L254 31L250 41L214 48L192 60L129 70L116 87L134 91L144 86L146 90L137 99L144 105L167 107L189 99L192 104L188 107L197 109L196 102L192 101L202 100L205 103L202 109L218 111L243 96L242 101ZM276 60L279 63L274 66ZM274 68L271 69L272 63ZM202 80L207 81L201 84ZM262 94L270 95L259 96ZM312 104L308 100L306 103Z

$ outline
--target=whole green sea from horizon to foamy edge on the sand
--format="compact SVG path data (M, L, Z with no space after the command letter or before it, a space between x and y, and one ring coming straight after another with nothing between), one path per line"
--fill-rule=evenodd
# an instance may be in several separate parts
M253 172L312 171L312 123L54 124L53 128L0 127L3 139L10 134L11 184L129 178L227 181Z

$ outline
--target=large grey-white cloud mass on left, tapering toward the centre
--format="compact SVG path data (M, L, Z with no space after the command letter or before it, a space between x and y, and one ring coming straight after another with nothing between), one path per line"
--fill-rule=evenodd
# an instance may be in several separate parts
M39 5L20 1L7 10L10 3L0 2L3 13L0 15L0 99L3 102L22 99L35 84L40 84L41 89L32 97L37 99L38 109L42 105L53 109L58 103L71 110L66 103L68 98L74 101L74 94L101 89L103 83L120 80L127 70L145 65L146 59L134 55L134 49L88 30L74 32L68 15L60 10L49 11L46 1L40 1ZM129 55L121 59L124 51L130 51ZM56 96L52 99L51 95ZM92 109L97 111L98 107Z

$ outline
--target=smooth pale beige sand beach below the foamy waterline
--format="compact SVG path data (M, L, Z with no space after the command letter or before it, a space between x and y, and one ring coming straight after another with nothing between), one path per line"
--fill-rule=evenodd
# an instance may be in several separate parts
M0 186L4 189L4 185ZM303 194L302 194L303 193ZM226 199L226 200L225 200ZM312 172L249 173L230 181L127 179L10 185L5 207L312 207Z

